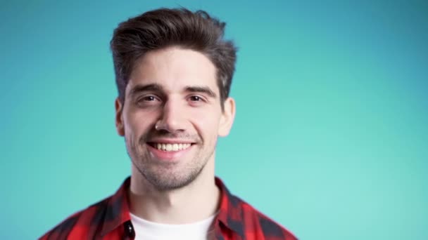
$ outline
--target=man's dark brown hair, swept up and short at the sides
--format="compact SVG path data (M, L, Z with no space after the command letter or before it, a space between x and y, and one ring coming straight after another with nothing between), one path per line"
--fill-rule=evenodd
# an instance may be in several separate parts
M125 102L125 88L139 58L149 51L179 46L199 51L213 62L223 107L237 58L233 42L223 39L225 25L205 11L193 13L186 8L160 8L120 23L110 42L120 101Z

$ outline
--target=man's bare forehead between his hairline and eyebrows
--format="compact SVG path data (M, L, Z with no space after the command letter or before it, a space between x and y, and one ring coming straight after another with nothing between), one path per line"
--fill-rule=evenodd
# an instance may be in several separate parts
M159 84L166 91L208 86L218 93L216 68L205 55L183 48L150 51L135 62L127 91L141 84Z

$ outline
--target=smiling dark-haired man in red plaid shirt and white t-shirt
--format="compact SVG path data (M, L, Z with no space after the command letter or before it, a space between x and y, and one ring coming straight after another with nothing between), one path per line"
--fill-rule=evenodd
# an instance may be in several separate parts
M162 8L115 29L115 123L131 176L42 239L296 239L215 178L217 138L235 114L236 48L224 27L203 11Z

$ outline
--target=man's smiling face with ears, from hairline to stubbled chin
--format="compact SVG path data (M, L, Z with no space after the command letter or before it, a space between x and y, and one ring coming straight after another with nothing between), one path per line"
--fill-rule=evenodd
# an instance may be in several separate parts
M205 55L182 48L146 53L116 100L116 128L133 168L160 190L213 173L218 135L227 135L234 101L220 106L216 69ZM211 164L207 164L207 163Z

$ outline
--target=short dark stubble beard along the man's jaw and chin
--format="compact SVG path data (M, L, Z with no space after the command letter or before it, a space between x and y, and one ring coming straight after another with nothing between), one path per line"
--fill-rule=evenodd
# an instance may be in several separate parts
M203 142L198 142L199 149L192 149L196 154L192 159L186 159L185 163L160 163L153 161L146 146L144 137L135 144L134 141L125 138L127 153L137 171L159 192L180 189L190 185L201 175L206 164L214 154L212 149L203 147ZM178 165L181 166L178 166Z

